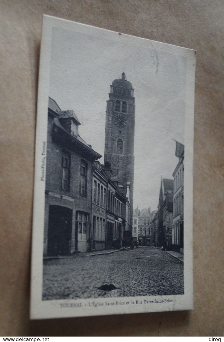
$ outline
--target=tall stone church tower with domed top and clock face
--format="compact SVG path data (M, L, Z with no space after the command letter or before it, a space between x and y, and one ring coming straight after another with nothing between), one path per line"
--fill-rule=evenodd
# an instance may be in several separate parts
M119 182L119 190L127 196L133 211L134 183L134 89L123 73L110 86L106 109L104 163L110 162L112 175ZM130 222L132 226L132 221Z

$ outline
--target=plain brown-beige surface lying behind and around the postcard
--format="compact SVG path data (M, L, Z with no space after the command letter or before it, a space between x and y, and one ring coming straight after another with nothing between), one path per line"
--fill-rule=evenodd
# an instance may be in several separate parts
M0 0L1 336L223 336L223 29L219 0ZM197 50L194 311L29 321L42 14Z

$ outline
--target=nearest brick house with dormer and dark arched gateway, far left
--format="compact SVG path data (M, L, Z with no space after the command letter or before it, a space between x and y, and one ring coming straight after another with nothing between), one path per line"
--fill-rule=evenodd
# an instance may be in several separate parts
M92 166L101 155L78 134L73 110L49 98L44 255L91 248Z

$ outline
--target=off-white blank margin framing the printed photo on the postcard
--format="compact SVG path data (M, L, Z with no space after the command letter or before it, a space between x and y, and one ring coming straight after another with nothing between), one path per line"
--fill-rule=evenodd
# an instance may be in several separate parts
M43 230L45 203L45 160L47 148L47 118L48 96L51 64L51 41L53 28L80 31L108 39L131 39L136 43L153 44L156 50L165 50L173 54L187 57L186 77L186 113L185 113L185 184L184 188L184 294L147 297L115 297L77 300L42 300L42 271L43 271ZM36 154L35 154L35 186L34 211L32 231L32 259L31 259L31 319L95 316L124 313L159 312L173 310L190 310L193 308L193 134L194 134L194 78L195 51L176 47L156 41L133 37L101 28L65 21L63 19L43 16L41 54L38 86ZM44 170L43 170L44 169ZM44 181L41 181L41 176ZM158 302L155 302L157 300ZM136 302L137 301L137 302ZM154 301L154 303L145 303ZM162 302L163 301L163 302ZM95 306L89 303L95 302ZM124 304L106 305L106 302ZM132 304L134 302L134 304ZM140 303L142 302L142 303ZM103 305L101 305L103 303ZM129 304L127 304L129 303Z

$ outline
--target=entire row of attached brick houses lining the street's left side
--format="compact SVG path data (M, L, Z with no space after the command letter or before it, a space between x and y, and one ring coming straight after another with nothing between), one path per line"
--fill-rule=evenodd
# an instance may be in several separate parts
M131 229L131 182L119 183L110 162L100 164L79 125L73 110L49 97L44 255L115 248Z

